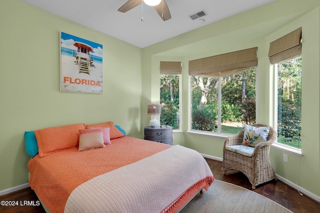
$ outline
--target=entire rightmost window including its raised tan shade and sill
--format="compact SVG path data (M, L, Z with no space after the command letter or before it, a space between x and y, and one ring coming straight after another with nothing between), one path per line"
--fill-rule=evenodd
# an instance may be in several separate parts
M301 58L302 28L274 40L269 60L274 65L275 147L301 155Z

